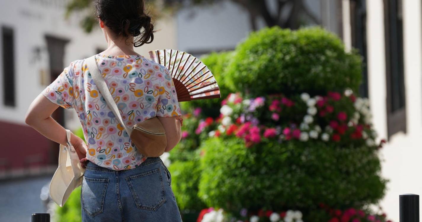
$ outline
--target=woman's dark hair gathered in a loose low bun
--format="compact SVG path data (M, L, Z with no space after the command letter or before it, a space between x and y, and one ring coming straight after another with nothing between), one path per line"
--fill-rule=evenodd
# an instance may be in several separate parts
M116 35L135 37L133 45L142 46L154 40L151 16L144 12L143 0L95 0L97 16ZM141 32L143 30L143 32Z

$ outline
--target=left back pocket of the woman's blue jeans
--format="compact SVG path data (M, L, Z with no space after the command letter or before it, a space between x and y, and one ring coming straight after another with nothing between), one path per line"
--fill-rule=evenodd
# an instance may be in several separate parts
M86 176L82 179L82 209L89 215L95 215L103 212L104 199L110 179L93 179Z

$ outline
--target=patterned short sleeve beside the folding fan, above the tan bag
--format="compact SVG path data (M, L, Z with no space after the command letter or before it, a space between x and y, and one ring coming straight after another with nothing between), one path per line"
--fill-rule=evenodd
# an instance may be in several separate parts
M165 68L164 81L160 81L160 90L157 101L157 116L181 116L176 88L174 87L173 78L171 78L170 72L167 68Z

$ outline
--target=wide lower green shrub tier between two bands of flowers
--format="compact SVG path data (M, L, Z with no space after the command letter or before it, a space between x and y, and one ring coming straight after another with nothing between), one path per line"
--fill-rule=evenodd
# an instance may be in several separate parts
M383 197L377 153L322 141L260 143L210 138L201 149L199 197L212 207L315 210L360 208Z

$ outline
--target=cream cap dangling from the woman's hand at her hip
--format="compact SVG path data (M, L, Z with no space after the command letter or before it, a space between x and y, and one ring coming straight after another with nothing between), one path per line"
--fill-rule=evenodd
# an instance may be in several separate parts
M70 193L81 186L85 169L79 162L78 154L70 143L70 130L66 130L68 145L60 144L59 167L50 182L50 196L60 207L65 205Z

